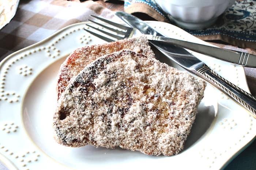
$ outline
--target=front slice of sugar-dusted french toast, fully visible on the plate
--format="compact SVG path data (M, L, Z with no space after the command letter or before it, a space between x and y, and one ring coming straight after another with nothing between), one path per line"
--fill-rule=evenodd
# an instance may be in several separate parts
M53 118L56 141L179 153L206 83L154 58L120 51L84 68L61 94Z

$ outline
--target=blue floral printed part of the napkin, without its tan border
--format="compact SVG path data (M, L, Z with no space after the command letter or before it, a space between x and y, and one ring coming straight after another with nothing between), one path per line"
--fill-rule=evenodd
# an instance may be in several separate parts
M132 3L147 4L168 19L167 14L158 7L154 0L125 0L124 8ZM185 29L185 31L197 36L222 34L239 40L256 42L256 0L236 1L218 18L217 24L210 28Z

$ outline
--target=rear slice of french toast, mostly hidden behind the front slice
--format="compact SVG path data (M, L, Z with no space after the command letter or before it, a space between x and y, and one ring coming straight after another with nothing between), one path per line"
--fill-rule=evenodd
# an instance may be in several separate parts
M125 49L154 57L154 52L148 45L148 40L145 36L78 48L67 57L60 67L56 89L57 99L60 98L69 81L88 64L103 55Z

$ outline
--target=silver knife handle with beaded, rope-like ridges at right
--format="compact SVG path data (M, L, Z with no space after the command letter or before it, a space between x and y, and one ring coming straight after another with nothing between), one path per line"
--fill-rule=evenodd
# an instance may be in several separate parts
M206 65L200 70L191 71L195 72L196 75L211 83L213 86L219 88L219 90L227 94L230 98L240 103L248 111L250 111L254 118L256 118L256 98L254 96L224 79Z

